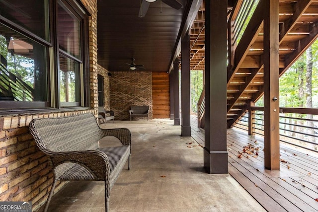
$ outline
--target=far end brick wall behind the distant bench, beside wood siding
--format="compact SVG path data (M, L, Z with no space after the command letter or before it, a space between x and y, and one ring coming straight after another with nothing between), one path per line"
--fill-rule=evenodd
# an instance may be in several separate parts
M110 77L110 108L115 119L129 120L130 106L149 105L149 117L153 118L152 72L114 71ZM135 118L135 119L143 119Z

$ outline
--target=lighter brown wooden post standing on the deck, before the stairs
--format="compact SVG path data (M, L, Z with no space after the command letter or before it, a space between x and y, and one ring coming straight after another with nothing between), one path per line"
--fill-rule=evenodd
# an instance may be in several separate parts
M279 2L264 0L265 168L279 170Z

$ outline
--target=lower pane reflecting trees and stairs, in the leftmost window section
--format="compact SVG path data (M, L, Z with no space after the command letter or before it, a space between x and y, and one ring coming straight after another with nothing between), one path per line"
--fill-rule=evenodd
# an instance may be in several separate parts
M47 52L0 24L0 101L48 101Z

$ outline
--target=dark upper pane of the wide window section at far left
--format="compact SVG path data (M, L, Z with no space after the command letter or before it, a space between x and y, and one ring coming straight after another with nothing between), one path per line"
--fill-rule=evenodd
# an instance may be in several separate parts
M0 0L0 15L50 42L48 0Z

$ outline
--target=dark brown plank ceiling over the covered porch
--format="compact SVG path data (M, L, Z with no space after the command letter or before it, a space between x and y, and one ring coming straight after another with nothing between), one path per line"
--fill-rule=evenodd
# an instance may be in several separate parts
M174 9L160 0L138 17L140 0L97 0L98 64L108 71L129 71L132 58L141 71L170 69L188 1Z

